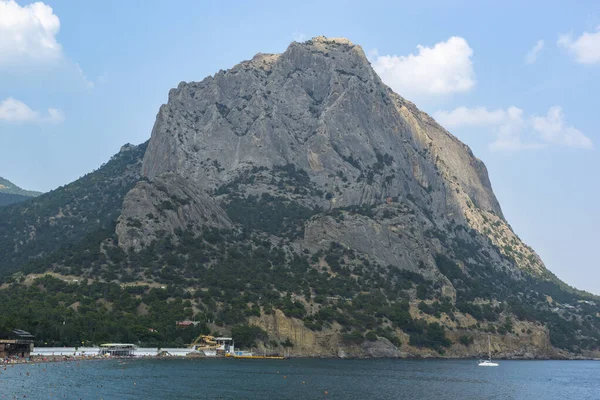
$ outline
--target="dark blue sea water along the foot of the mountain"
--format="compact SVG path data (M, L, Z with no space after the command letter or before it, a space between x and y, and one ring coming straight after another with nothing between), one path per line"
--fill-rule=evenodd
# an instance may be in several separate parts
M595 361L143 359L0 372L0 399L600 399Z

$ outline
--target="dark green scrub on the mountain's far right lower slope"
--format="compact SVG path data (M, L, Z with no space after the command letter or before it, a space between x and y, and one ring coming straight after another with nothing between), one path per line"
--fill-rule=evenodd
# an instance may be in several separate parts
M440 272L456 288L456 308L477 320L497 320L498 310L489 304L474 304L477 299L494 299L506 313L520 320L540 322L550 331L550 340L558 348L578 353L600 349L600 307L596 299L582 299L554 280L530 275L517 279L507 271L495 268L476 247L475 241L453 242L454 251L466 260L469 275L446 256L438 255ZM552 299L552 304L548 301ZM596 301L592 301L596 300ZM500 334L510 324L497 327ZM508 329L510 331L510 329Z

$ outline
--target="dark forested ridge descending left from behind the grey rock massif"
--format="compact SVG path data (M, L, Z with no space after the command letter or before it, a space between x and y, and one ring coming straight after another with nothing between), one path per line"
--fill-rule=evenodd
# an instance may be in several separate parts
M21 204L0 208L0 272L14 272L98 229L113 229L140 177L146 144L123 146L100 169Z

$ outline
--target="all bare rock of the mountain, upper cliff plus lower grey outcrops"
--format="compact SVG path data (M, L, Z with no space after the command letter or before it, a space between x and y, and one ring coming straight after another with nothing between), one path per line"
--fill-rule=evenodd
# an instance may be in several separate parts
M149 182L127 196L119 242L137 249L157 231L231 226L218 204L225 200L217 197L219 188L250 171L289 164L307 171L313 191L288 199L321 210L408 204L414 214L412 220L351 218L337 225L316 216L306 223L300 247L316 251L329 241L346 242L381 262L433 268L431 254L445 250L427 233L435 228L454 236L450 226L464 225L498 264L544 270L507 225L487 170L471 150L384 85L360 46L324 37L294 42L283 54L257 54L172 89L144 157ZM256 182L241 182L238 191L277 194ZM188 196L187 208L164 213L160 222L143 218L177 193ZM131 218L142 225L127 224ZM490 236L490 224L502 233ZM514 264L497 250L508 243L519 244Z

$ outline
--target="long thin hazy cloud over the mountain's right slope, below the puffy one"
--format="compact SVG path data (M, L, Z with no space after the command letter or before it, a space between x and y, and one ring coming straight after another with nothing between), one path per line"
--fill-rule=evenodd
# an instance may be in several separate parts
M458 107L453 111L438 111L434 117L449 128L487 127L495 136L489 146L492 151L530 150L549 145L594 148L590 138L566 124L558 106L550 107L545 117L524 117L523 110L514 106L506 110Z

